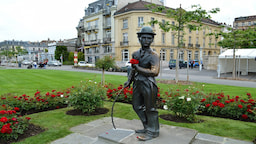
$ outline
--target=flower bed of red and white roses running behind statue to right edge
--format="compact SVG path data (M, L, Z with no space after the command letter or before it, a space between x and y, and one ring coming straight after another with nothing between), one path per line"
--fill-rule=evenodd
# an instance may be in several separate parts
M105 87L108 88L106 95L109 101L113 101L123 88L122 85L114 88L111 84ZM247 93L247 99L224 95L222 92L206 94L195 87L169 89L161 93L159 89L158 108L173 111L177 117L191 122L197 121L196 114L256 122L256 98L252 98L250 93ZM132 88L121 91L117 101L131 104Z

